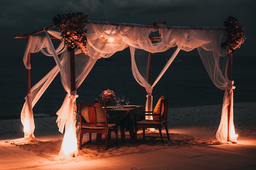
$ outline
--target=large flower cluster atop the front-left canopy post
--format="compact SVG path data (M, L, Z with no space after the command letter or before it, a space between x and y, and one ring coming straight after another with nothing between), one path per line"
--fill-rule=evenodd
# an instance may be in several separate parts
M87 29L85 29L85 20L89 15L85 15L83 13L68 13L63 15L58 15L58 18L54 18L54 24L57 23L57 26L60 26L61 41L64 40L65 46L68 49L78 48L82 53L88 54L88 50L86 48L87 39L85 37L85 33Z

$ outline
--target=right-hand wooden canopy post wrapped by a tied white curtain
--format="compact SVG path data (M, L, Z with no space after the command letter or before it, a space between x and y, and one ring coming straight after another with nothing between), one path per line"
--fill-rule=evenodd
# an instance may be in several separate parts
M227 78L232 81L232 54L227 55ZM230 94L229 94L230 96ZM228 97L229 98L229 97ZM231 130L231 104L229 100L229 105L227 106L227 141L231 141L230 130Z

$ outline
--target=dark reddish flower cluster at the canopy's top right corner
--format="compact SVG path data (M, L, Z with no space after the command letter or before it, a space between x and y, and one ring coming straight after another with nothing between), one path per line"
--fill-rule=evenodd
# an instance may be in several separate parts
M221 47L228 46L227 53L233 53L245 42L245 30L238 20L231 16L224 22L224 25L227 27L227 40L221 44Z

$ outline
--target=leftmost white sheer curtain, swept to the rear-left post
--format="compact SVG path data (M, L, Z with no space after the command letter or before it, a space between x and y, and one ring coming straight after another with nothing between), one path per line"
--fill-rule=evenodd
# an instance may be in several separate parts
M56 49L56 53L61 53L63 51L63 43ZM45 54L52 53L49 44L47 43L47 38L45 37L36 37L30 36L27 41L27 47L23 56L23 62L27 69L31 69L31 65L27 63L28 53L37 53L39 51L43 51ZM54 50L55 51L55 50ZM48 55L50 56L50 55ZM24 127L24 137L33 137L34 136L34 116L32 108L38 101L38 99L43 95L49 84L51 84L52 80L58 74L58 68L54 67L43 79L41 79L38 83L36 83L30 90L30 93L27 93L25 97L25 104L22 108L20 114L20 120Z

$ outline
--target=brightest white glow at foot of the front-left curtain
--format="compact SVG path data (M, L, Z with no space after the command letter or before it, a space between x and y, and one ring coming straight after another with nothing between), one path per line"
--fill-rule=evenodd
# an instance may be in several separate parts
M78 151L77 138L75 132L76 130L74 130L74 127L72 125L66 128L62 145L62 151L65 157L71 157L71 155L76 154L75 152Z

